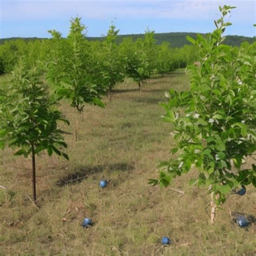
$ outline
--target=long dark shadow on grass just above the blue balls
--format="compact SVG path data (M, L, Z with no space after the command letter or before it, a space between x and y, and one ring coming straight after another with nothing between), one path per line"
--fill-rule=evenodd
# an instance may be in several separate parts
M97 165L97 166L80 166L75 169L75 172L68 174L67 176L60 178L57 181L59 187L66 185L72 185L82 182L84 179L90 175L97 174L103 171L112 172L112 171L123 171L129 172L134 169L133 165L126 163L116 163L110 165Z

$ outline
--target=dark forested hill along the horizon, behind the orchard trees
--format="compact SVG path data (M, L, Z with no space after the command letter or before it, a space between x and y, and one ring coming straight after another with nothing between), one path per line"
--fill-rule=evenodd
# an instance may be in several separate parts
M157 44L161 44L163 42L169 42L173 47L182 47L185 44L190 44L186 40L186 36L190 36L192 38L197 37L197 33L191 32L170 32L170 33L155 33L155 38L157 39ZM144 34L134 34L134 35L119 35L118 42L121 42L125 37L132 37L133 40L138 38L143 38ZM102 41L104 37L86 37L89 41L92 40L100 40ZM37 38L37 37L29 37L29 38L20 38L20 37L11 37L11 38L2 38L0 39L0 44L3 44L5 40L11 39L24 39L25 41L31 41L36 39L46 39L46 38ZM240 45L242 42L253 43L256 41L256 37L245 37L245 36L226 36L224 41L225 44L228 45Z

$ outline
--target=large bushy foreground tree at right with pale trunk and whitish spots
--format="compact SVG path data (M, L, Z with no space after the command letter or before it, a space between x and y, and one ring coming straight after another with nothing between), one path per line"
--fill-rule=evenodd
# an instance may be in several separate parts
M240 186L256 186L254 164L242 165L256 150L255 56L238 53L221 44L224 18L234 7L220 7L217 29L206 38L188 41L198 45L200 61L191 65L190 91L169 92L164 120L174 126L177 157L159 165L159 180L150 183L168 186L173 178L195 166L199 170L193 185L205 185L211 193L211 223L216 207L227 194ZM183 108L181 111L180 108Z

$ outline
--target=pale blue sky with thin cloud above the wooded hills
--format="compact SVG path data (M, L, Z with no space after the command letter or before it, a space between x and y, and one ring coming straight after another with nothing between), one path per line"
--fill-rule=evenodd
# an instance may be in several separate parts
M10 1L0 0L0 38L49 37L56 29L68 35L71 17L82 17L87 36L105 35L111 21L119 34L156 32L209 32L218 19L219 5L232 10L227 35L255 36L256 1Z

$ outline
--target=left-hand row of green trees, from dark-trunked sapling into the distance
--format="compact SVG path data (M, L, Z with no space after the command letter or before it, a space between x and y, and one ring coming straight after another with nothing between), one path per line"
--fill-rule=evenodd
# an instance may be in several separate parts
M156 45L153 31L133 42L126 38L116 43L118 30L112 24L103 42L89 42L80 18L71 20L67 38L50 30L45 41L8 41L1 46L2 72L12 72L11 86L1 87L0 147L18 148L16 155L32 157L33 199L36 201L36 154L46 150L68 159L67 146L59 122L69 124L57 104L70 100L83 113L85 104L104 107L100 98L111 96L114 85L128 76L138 82L139 90L152 75L167 73L187 60L178 57L168 44ZM188 49L186 49L187 51ZM172 57L176 56L173 62ZM184 55L185 56L185 55ZM190 59L192 61L192 59ZM50 94L48 85L54 88Z

